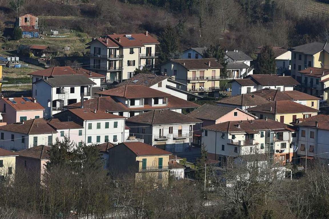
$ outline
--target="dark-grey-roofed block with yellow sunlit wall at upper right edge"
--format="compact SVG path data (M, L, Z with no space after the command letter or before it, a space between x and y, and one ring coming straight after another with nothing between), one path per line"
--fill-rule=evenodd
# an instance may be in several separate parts
M329 69L329 45L313 42L289 49L291 51L291 76L298 80L299 71L308 67ZM301 81L299 81L301 82Z

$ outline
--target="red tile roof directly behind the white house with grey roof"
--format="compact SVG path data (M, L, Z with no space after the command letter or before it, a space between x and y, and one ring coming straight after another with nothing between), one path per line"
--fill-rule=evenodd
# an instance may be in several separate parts
M84 75L88 78L104 78L104 75L97 74L95 72L83 69L83 68L77 68L73 69L71 67L50 67L44 70L36 71L28 73L28 75L35 75L35 76L44 76L44 77L51 77L56 75Z

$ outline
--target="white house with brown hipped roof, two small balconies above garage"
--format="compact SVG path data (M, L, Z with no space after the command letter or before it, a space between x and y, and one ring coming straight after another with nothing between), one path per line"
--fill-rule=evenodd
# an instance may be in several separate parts
M153 110L127 119L130 135L173 153L191 149L193 126L198 123L202 121L172 110Z

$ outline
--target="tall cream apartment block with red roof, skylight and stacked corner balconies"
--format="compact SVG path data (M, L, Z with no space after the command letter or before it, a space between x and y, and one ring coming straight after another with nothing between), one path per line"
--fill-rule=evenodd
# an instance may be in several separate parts
M121 82L143 67L154 69L158 40L147 31L133 34L109 34L94 38L90 46L90 69L106 76L109 82Z

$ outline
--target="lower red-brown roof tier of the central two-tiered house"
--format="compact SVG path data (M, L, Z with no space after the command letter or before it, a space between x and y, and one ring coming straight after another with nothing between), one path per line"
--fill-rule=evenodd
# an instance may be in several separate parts
M66 108L80 108L81 103L73 103ZM154 109L182 109L182 108L196 108L200 105L187 101L185 99L181 99L178 97L168 97L167 106L150 106L148 104L144 104L144 107L138 108L128 108L123 103L115 99L115 97L97 97L84 101L84 108L86 109L96 109L99 111L109 111L109 112L128 112L128 111L136 111L136 110L154 110Z

